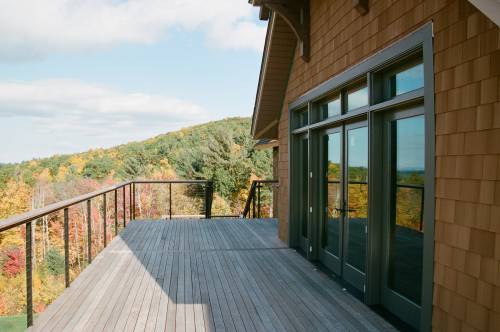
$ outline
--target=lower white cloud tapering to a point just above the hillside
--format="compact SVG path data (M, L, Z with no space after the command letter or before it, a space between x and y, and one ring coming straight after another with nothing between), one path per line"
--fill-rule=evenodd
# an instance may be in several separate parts
M0 162L113 146L211 118L188 101L80 81L0 82L0 140L16 142L1 149Z

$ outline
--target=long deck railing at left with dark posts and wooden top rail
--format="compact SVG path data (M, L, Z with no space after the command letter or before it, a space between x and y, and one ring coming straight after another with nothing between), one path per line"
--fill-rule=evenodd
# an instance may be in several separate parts
M148 199L146 196L159 193L156 189L145 190L148 186L163 186L164 194ZM157 213L162 219L210 219L212 197L213 184L207 180L134 180L0 221L0 251L4 249L2 239L6 235L15 239L11 241L13 245L6 244L10 246L9 260L0 262L0 278L4 278L0 280L0 326L5 316L22 317L27 327L32 326L34 309L37 313L43 311L69 287L72 279L107 247L128 221L158 219ZM162 211L161 204L165 206ZM20 248L22 242L24 248ZM12 287L8 285L10 282ZM36 289L34 294L34 284L51 289ZM61 286L54 286L58 284ZM2 290L8 290L11 297L16 293L18 298L6 299Z

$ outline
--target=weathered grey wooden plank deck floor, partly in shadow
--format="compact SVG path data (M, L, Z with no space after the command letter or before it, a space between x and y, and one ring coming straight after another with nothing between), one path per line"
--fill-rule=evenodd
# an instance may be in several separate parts
M36 331L388 331L273 220L132 222Z

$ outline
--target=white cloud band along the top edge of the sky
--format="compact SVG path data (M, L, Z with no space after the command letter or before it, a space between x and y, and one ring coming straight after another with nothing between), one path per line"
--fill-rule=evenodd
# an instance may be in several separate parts
M260 51L265 27L246 0L0 0L0 60L148 44L198 30L214 47Z

